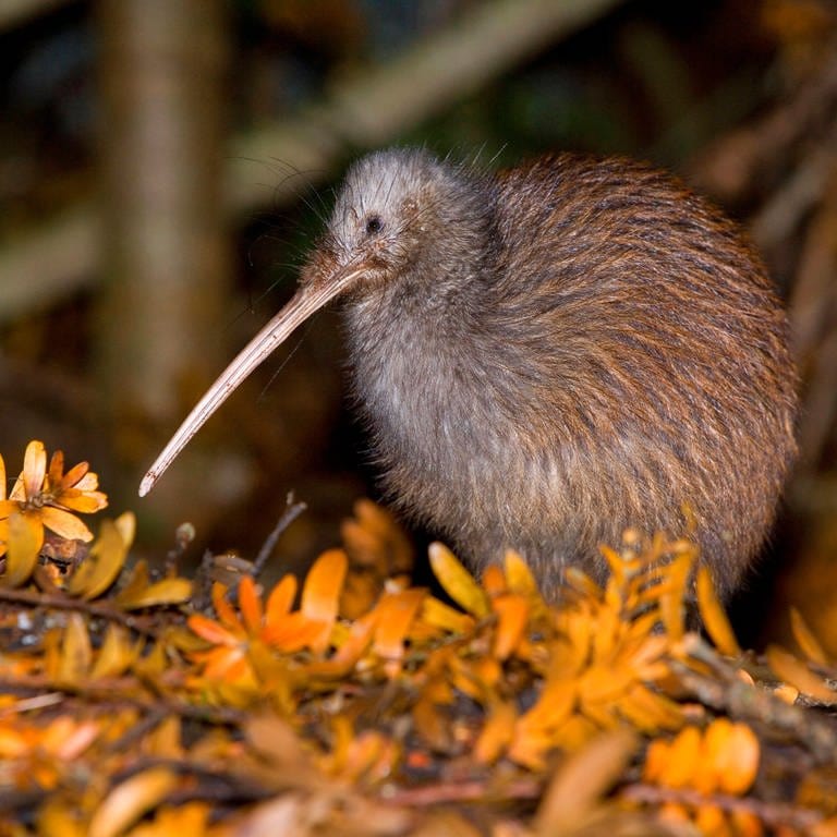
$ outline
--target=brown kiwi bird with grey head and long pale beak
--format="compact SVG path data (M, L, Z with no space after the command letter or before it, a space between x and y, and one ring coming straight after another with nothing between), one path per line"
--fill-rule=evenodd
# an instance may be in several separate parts
M681 533L728 594L792 461L788 324L741 231L677 179L559 154L492 174L421 149L353 165L290 303L141 495L308 315L343 300L353 393L392 502L478 569L553 595L623 530Z

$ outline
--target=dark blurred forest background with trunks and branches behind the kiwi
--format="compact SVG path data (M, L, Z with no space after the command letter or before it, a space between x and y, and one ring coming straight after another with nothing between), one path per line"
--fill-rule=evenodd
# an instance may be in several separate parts
M486 166L546 150L668 167L751 231L789 301L802 458L745 638L801 605L837 650L837 9L827 0L0 2L0 452L89 460L165 554L252 554L286 505L283 569L375 496L326 312L241 387L159 486L195 400L290 295L366 149ZM764 602L768 598L773 607ZM757 615L757 616L756 616Z

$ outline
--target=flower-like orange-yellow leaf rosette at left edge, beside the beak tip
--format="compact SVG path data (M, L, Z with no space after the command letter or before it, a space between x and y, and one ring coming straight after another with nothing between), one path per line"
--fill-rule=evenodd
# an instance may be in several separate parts
M70 541L92 541L93 533L72 512L92 513L108 505L105 494L97 490L99 481L86 462L80 462L64 473L64 454L57 450L47 469L44 442L26 446L23 471L5 498L5 465L0 457L0 556L9 543L9 519L22 514L29 525L44 529Z

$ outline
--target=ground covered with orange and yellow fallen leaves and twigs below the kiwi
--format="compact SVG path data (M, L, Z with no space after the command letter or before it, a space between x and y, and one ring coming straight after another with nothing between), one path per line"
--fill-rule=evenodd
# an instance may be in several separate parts
M210 559L196 606L187 542L94 537L57 457L0 499L0 834L837 835L833 660L799 614L742 652L688 538L627 533L557 605L434 544L435 594L362 501L305 579Z

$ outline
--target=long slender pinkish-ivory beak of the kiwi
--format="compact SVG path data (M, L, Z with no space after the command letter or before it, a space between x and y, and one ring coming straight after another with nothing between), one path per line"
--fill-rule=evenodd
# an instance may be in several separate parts
M162 449L140 484L140 496L145 497L189 440L203 427L209 416L232 395L246 378L305 319L327 302L341 294L359 276L363 267L351 265L325 280L305 284L291 301L247 343L235 360L195 404L183 424Z

